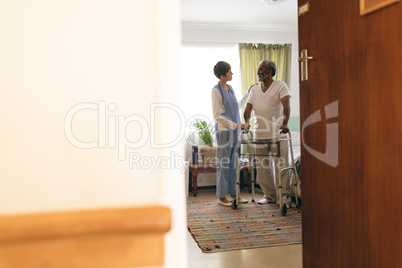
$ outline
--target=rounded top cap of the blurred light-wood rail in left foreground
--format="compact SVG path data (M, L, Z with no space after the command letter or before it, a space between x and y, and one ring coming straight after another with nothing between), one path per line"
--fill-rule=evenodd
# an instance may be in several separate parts
M170 221L170 210L163 206L0 216L0 243L102 233L164 233Z

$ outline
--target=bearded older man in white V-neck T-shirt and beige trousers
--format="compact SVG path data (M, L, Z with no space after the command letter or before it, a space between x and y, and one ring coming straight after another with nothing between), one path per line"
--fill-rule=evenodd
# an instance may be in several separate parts
M256 145L257 182L264 198L258 204L276 203L278 196L278 178L280 168L288 166L287 142L280 142L280 157L268 156L271 151L278 154L277 146L268 142L277 140L278 132L288 133L287 126L290 116L290 92L282 81L274 80L276 65L273 61L262 60L257 69L258 84L250 89L247 106L244 112L245 122L250 121L251 112L255 113L254 138L267 143ZM273 157L273 159L272 159ZM274 167L272 167L272 164ZM275 183L276 178L276 183ZM288 207L291 203L289 174L282 176L282 200Z

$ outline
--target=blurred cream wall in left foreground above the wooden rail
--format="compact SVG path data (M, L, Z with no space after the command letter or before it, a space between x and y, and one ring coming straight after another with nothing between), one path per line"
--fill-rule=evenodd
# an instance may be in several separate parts
M178 105L179 4L0 1L0 214L165 204L166 267L186 266L182 167L150 166L183 155L151 144L180 130L151 110Z

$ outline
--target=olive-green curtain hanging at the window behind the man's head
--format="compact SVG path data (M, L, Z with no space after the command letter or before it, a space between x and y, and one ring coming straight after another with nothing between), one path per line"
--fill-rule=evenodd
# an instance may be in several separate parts
M239 44L242 93L258 82L257 67L261 60L276 64L274 80L285 82L290 88L292 44Z

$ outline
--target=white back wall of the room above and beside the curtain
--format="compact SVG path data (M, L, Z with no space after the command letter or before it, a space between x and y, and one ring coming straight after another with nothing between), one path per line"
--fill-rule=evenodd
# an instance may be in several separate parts
M299 106L299 66L298 57L298 32L297 29L264 29L230 27L222 25L196 25L183 24L183 43L264 43L264 44L292 44L292 69L290 92L291 116L300 114ZM256 66L250 66L256 68ZM187 150L189 151L189 150ZM215 174L200 174L198 176L199 186L216 184Z

